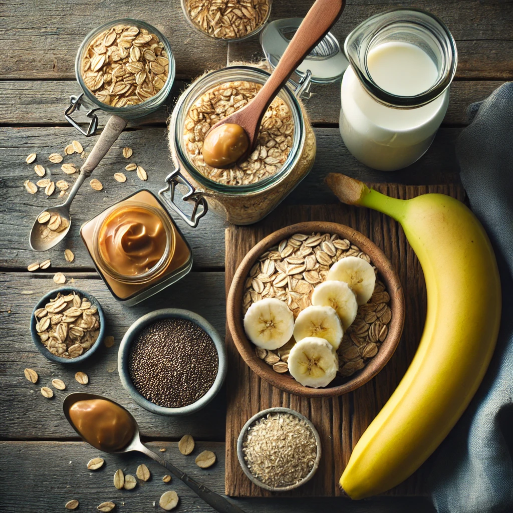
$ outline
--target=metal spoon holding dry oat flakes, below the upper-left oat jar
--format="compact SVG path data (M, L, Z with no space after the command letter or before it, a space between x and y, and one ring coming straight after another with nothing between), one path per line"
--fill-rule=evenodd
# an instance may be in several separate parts
M34 224L32 225L32 229L30 230L30 247L35 251L46 251L47 249L53 248L56 244L61 242L65 236L67 235L70 227L71 227L71 216L69 214L69 207L71 206L71 202L75 198L78 189L84 183L85 179L91 175L96 166L100 164L100 161L103 159L107 151L111 148L111 146L116 141L117 137L120 136L121 132L127 126L128 121L124 120L120 116L113 115L110 117L109 121L105 125L105 128L100 135L100 138L96 141L94 148L89 153L89 156L86 159L86 162L80 168L80 174L77 176L71 191L69 192L69 196L67 200L62 205L57 205L55 207L46 208L42 210L40 214L37 215ZM50 231L51 237L43 236L43 230L45 229L45 224L41 224L38 221L39 216L43 212L49 212L50 215L58 214L62 219L67 221L68 226L64 228L62 231Z

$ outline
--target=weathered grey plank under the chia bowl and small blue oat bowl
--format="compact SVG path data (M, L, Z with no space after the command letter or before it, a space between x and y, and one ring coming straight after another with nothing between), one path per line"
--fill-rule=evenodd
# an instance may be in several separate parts
M141 432L153 440L176 440L187 432L204 440L224 440L224 390L201 412L189 417L161 417L137 406L121 386L117 373L117 349L125 331L149 311L158 308L192 310L205 317L223 336L224 273L190 273L179 283L132 308L116 302L95 274L68 274L67 277L68 280L73 279L74 286L92 293L100 301L106 315L108 333L114 336L115 344L109 349L101 348L90 361L79 366L61 365L47 360L32 342L29 322L34 304L42 295L56 288L51 275L40 277L28 272L0 274L0 388L3 390L0 397L0 439L76 437L62 414L62 400L68 392L87 390L105 394L128 408L140 422ZM188 293L184 294L184 290ZM195 294L195 291L198 293ZM199 300L207 294L208 301ZM26 367L39 374L36 384L25 379L23 369ZM74 379L77 370L86 372L90 378L85 387ZM67 389L63 392L54 390L54 397L48 400L41 395L40 389L42 386L51 386L49 383L53 378L61 378Z

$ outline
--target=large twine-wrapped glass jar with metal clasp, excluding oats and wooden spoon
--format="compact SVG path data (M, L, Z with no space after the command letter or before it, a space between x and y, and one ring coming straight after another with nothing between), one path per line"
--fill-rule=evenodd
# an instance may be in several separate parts
M195 226L194 211L188 217L174 204L176 183L185 185L189 192L184 199L201 200L230 223L247 225L264 218L297 186L310 171L315 159L315 135L308 115L299 100L308 87L309 76L301 86L289 81L278 97L289 107L294 123L292 148L281 169L254 184L224 185L208 179L192 164L184 142L184 123L193 103L216 85L234 81L264 84L269 73L252 66L231 66L210 71L198 78L180 96L171 116L169 143L175 170L167 177L168 187L160 191L166 203L191 226ZM194 224L195 223L195 224Z

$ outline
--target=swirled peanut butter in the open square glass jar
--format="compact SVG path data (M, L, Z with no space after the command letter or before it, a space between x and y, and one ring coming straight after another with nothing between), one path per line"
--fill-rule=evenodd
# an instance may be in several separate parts
M125 276L149 271L161 260L166 246L167 234L161 217L142 205L115 209L98 235L102 258Z

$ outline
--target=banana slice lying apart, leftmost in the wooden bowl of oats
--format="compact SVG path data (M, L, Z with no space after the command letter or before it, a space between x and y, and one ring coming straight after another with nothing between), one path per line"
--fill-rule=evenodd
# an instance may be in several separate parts
M276 298L262 299L248 308L244 330L255 346L278 349L292 337L294 315L285 302Z

